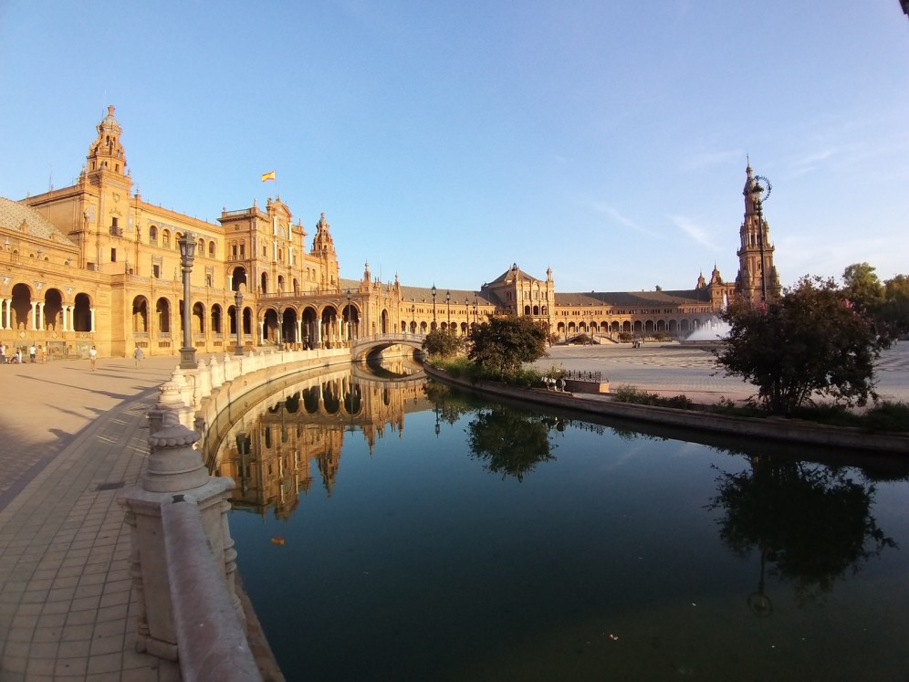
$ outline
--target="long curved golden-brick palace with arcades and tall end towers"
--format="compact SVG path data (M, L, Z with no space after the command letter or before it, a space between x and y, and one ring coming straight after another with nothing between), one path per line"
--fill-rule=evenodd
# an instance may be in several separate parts
M517 264L476 290L383 283L369 265L361 278L342 279L324 214L307 247L306 229L280 197L225 209L216 222L151 204L134 186L121 136L110 107L75 184L21 202L0 199L0 341L47 344L55 354L84 354L92 344L101 355L137 347L175 354L183 331L177 239L186 233L196 242L191 324L200 352L230 351L237 331L245 345L311 347L434 327L465 334L486 314L507 311L563 336L684 336L736 290L717 268L694 289L590 294L557 293L551 270L538 279ZM762 267L768 290L778 291L767 224L758 223L747 195L737 284L749 299Z

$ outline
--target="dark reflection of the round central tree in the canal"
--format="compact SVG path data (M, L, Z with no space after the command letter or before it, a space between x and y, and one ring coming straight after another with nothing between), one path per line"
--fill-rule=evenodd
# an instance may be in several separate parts
M505 408L479 412L467 425L467 444L486 460L486 470L524 480L539 462L555 459L549 452L549 429L554 417L534 418Z

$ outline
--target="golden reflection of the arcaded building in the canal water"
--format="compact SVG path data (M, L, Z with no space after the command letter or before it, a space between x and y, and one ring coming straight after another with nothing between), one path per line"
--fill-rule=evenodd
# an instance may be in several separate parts
M311 376L253 407L221 444L214 473L235 479L235 508L274 508L285 519L317 475L331 494L345 434L360 431L372 453L388 429L402 431L405 412L427 406L422 376L393 383L354 381L350 371Z

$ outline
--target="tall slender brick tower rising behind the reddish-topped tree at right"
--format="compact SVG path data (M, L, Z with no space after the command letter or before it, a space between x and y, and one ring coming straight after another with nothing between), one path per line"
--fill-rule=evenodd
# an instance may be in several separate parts
M745 219L738 230L740 244L737 251L738 296L752 304L771 301L779 296L779 277L773 265L774 247L770 243L769 224L764 219L761 193L768 190L754 176L751 164L746 169L747 178L742 195L745 197ZM766 181L765 181L766 182Z

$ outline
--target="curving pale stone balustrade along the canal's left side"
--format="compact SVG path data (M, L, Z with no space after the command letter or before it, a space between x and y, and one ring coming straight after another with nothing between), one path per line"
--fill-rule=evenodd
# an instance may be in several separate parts
M131 527L136 648L179 660L184 680L262 679L235 592L227 524L235 484L209 475L196 443L209 425L228 427L231 403L246 393L294 372L349 362L349 349L252 351L176 369L162 385L149 413L148 466L118 501ZM219 421L220 413L227 418Z

